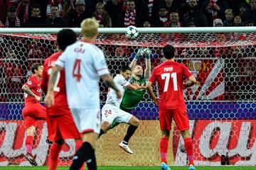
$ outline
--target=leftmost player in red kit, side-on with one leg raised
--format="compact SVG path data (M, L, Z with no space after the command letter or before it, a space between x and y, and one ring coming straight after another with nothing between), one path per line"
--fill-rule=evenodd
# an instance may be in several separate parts
M35 63L31 67L33 73L28 78L26 84L22 86L24 91L25 106L22 110L22 116L26 127L26 155L25 158L32 165L37 166L35 158L32 155L33 137L36 133L37 121L46 120L46 108L41 106L41 86L40 79L43 72L42 64Z

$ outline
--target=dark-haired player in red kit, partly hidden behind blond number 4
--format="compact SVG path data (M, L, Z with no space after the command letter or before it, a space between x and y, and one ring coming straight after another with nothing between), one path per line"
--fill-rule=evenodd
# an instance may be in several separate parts
M73 44L77 40L73 30L63 29L57 34L57 43L59 52L51 55L44 62L44 69L41 81L41 88L46 94L48 89L48 81L52 67L56 60L62 54L68 45ZM65 139L80 139L80 133L75 126L73 117L68 108L68 101L65 89L65 70L58 72L57 81L54 86L55 105L47 109L48 139L53 141L50 146L50 156L48 167L49 170L57 169L58 157ZM77 148L82 145L82 141L77 141ZM83 168L83 167L82 167Z

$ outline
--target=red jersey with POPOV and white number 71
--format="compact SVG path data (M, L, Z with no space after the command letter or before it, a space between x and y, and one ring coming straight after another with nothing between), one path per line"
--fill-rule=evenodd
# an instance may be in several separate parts
M159 85L159 109L186 108L183 98L183 77L192 74L184 64L166 61L155 67L149 81Z

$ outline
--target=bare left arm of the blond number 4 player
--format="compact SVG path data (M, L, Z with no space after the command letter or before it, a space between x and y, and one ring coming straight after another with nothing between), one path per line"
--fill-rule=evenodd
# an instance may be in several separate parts
M63 67L55 65L52 68L52 72L50 73L48 91L47 91L46 99L45 99L47 107L54 106L53 88L54 88L54 84L55 84L56 79L57 79L58 72L60 72L60 70L62 70L62 69L63 69Z

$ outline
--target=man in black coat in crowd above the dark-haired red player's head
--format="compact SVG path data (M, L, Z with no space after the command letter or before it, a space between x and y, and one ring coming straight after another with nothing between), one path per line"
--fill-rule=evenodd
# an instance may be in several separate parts
M58 5L50 6L50 18L46 19L46 27L50 28L67 28L68 21L60 17Z

